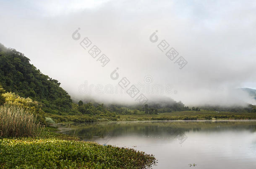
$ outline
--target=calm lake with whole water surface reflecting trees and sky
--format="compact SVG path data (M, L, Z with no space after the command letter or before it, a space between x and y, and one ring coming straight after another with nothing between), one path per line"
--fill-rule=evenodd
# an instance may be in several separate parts
M255 120L126 121L58 126L63 133L85 141L154 154L158 160L154 169L256 169Z

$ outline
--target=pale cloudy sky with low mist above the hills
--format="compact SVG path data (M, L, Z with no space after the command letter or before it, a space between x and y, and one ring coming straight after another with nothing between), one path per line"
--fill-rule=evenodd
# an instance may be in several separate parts
M0 43L74 100L255 104L234 91L256 89L253 0L0 0L0 23Z

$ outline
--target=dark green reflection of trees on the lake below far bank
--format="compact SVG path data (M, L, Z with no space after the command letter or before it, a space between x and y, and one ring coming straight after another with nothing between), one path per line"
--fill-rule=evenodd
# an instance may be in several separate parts
M224 131L224 130L249 130L256 131L256 121L138 121L138 122L103 122L68 124L63 127L71 128L67 134L83 139L106 136L116 137L121 135L139 136L180 136L185 132L193 131Z

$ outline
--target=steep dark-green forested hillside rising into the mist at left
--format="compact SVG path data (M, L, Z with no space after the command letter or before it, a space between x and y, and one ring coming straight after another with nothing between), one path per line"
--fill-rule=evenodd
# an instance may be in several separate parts
M43 103L47 113L58 114L71 109L71 97L60 83L42 74L29 58L0 44L0 85L8 92Z

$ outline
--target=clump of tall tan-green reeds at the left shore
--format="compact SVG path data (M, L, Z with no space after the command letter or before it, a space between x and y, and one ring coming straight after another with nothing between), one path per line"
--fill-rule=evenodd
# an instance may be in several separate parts
M20 106L4 104L0 106L0 136L38 136L43 127L36 122L37 117Z

